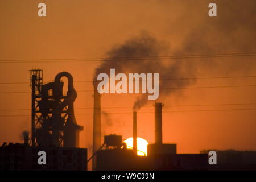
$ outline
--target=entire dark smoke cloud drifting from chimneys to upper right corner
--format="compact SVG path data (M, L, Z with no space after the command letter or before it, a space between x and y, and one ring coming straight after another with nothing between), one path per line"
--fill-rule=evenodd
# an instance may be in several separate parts
M188 2L189 3L189 2ZM193 2L194 3L194 2ZM200 2L202 3L202 2ZM203 2L207 3L207 2ZM240 9L241 3L248 9ZM95 71L94 81L100 73L109 73L110 68L115 68L116 73L159 73L159 97L166 96L182 89L180 88L194 84L196 80L184 78L196 77L200 71L213 72L219 75L230 75L231 73L249 73L255 69L255 61L240 59L208 57L204 59L140 59L133 60L133 57L158 57L168 55L209 55L218 53L240 53L255 52L256 28L255 2L218 2L218 17L213 19L208 16L201 18L193 27L188 27L187 35L184 36L181 47L170 48L167 40L158 40L147 31L141 32L139 36L127 39L122 44L115 45L106 54L108 60L103 61ZM228 14L224 7L229 7ZM243 12L243 11L246 11ZM191 11L185 11L191 13ZM184 12L184 16L188 16ZM240 12L240 13L239 13ZM245 22L251 19L253 22ZM182 22L179 22L182 23ZM171 31L171 30L170 30ZM172 43L172 42L171 42ZM120 60L118 60L120 58ZM131 60L122 60L121 58ZM113 60L112 60L113 59ZM172 80L164 80L174 78ZM175 79L178 78L178 79ZM140 94L134 102L133 109L139 110L148 102L147 94Z

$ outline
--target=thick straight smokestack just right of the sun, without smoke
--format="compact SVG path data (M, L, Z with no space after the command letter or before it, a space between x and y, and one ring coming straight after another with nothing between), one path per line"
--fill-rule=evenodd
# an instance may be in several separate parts
M162 107L161 102L155 103L155 143L162 144Z

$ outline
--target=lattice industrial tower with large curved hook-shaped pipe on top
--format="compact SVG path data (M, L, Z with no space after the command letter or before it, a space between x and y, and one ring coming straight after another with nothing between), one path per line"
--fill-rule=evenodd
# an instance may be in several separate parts
M63 94L64 82L68 78L68 92ZM43 84L43 71L30 70L32 89L31 144L32 146L79 147L79 131L73 102L77 97L73 77L60 72L53 82Z

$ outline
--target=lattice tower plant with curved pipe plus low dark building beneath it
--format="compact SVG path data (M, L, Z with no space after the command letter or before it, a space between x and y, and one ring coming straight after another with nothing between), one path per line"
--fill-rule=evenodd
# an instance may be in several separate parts
M68 79L63 92L62 77ZM73 77L60 72L53 82L43 84L43 71L30 70L31 136L23 132L24 143L3 143L0 170L87 170L87 149L79 148L78 125L74 114L77 92ZM46 164L39 164L39 151L46 152Z

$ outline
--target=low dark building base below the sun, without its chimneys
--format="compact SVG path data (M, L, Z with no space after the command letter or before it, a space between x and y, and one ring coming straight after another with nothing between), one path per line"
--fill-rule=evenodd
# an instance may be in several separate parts
M129 149L97 152L97 170L208 170L208 154L150 154L138 156Z

